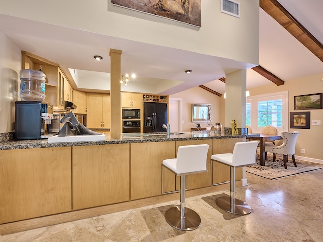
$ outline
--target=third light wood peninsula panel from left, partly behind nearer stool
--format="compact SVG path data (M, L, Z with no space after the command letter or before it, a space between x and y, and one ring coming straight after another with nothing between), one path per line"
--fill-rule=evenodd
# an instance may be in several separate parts
M131 144L131 200L161 195L161 163L176 157L175 147L175 141Z

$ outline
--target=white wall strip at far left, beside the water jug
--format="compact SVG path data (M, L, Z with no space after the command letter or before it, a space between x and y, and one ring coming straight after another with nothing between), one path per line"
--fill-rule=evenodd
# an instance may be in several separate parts
M0 133L13 131L18 99L21 52L0 31Z

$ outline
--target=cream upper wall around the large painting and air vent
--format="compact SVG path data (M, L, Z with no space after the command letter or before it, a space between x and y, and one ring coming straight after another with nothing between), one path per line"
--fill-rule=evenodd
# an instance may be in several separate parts
M6 1L0 14L258 64L259 0L240 0L241 18L221 13L220 0L201 0L199 30L179 26L171 20L163 23L148 14L133 17L111 12L108 2Z

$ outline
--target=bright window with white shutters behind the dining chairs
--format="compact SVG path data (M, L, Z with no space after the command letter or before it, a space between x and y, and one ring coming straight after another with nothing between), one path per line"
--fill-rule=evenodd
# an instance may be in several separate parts
M246 102L246 124L255 133L272 125L278 131L288 131L288 92L250 96Z

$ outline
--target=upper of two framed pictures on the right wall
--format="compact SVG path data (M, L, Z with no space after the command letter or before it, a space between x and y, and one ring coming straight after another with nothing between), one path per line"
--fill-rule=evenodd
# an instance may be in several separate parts
M322 93L294 96L294 110L322 108Z

